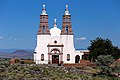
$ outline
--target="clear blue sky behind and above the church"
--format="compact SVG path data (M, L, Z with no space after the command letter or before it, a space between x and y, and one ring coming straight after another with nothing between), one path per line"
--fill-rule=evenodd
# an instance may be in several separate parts
M0 0L0 49L36 47L43 4L49 28L56 18L60 29L65 5L69 5L75 48L86 49L96 37L120 47L120 0Z

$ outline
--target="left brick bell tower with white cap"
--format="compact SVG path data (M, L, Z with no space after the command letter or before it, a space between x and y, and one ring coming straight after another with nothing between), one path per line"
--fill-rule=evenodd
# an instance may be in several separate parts
M46 13L45 5L43 5L42 13L40 14L40 25L37 34L50 34L48 26L48 14Z

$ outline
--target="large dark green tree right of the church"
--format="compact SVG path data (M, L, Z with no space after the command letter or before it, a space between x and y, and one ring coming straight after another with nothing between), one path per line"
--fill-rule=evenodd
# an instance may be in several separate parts
M88 50L90 50L89 59L92 61L95 61L99 55L112 55L115 59L120 58L120 49L113 46L109 39L98 37L92 40Z

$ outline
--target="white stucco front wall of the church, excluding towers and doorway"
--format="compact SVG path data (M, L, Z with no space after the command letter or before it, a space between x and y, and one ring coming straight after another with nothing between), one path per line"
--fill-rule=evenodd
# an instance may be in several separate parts
M48 47L47 45L61 45L63 44L63 62L64 63L75 63L75 56L79 55L82 59L83 52L76 51L74 48L74 35L60 35L60 36L51 36L51 35L37 35L37 47L35 49L34 61L36 64L48 64ZM54 43L54 41L57 43ZM61 50L61 47L50 47L50 50L57 48ZM44 61L41 61L41 54L44 54ZM67 61L67 54L70 54L70 60ZM52 60L50 56L50 60ZM60 61L60 57L59 57Z

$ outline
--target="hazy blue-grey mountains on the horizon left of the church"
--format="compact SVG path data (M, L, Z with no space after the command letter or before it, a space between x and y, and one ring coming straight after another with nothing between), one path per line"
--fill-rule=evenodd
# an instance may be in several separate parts
M33 59L33 51L27 50L15 50L14 52L8 54L5 52L0 52L0 57L3 58L30 58Z

